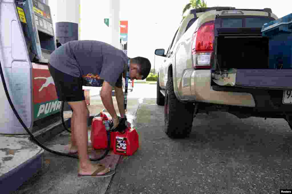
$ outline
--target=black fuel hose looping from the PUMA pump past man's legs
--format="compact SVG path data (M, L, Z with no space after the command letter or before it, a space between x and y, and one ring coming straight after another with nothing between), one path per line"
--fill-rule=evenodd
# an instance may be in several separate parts
M62 153L62 152L57 152L57 151L54 151L52 149L49 149L47 148L46 146L44 146L41 142L39 142L39 140L37 138L34 137L34 135L29 131L29 129L27 129L27 127L25 126L24 122L22 121L22 119L20 118L20 116L18 115L17 111L15 110L15 107L11 101L11 98L9 96L9 92L8 92L8 89L7 89L7 86L6 86L6 82L5 82L5 78L4 78L4 71L2 69L2 65L1 65L1 62L0 62L0 74L1 74L1 79L2 79L2 83L3 83L3 88L5 90L5 93L6 93L6 97L8 99L8 102L15 114L15 116L18 118L20 124L22 125L22 127L25 129L25 131L27 131L27 133L29 134L29 136L32 138L32 140L34 141L34 143L36 145L38 145L39 147L43 148L44 150L48 151L48 152L51 152L53 154L57 154L57 155L60 155L60 156L67 156L67 157L70 157L70 158L77 158L78 159L78 156L74 156L74 155L71 155L71 154L65 154L65 153ZM64 102L62 103L62 113L64 111ZM61 114L61 117L62 117L62 124L63 124L63 127L65 129L67 129L67 127L65 126L65 122L64 122L64 116L63 114ZM68 129L67 129L68 131ZM109 149L110 149L110 139L109 139L109 136L107 137L107 140L108 140L108 144L107 144L107 150L105 151L105 153L98 159L90 159L91 161L99 161L99 160L102 160L105 158L105 156L108 154L109 152Z

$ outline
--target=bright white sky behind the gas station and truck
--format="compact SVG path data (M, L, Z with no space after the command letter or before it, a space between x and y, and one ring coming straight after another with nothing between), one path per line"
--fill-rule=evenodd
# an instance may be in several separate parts
M51 2L50 2L51 1ZM51 10L55 10L55 4L49 0ZM102 28L96 27L96 30L90 30L92 27L91 19L82 19L92 17L93 12L90 9L98 8L104 11L103 15L96 14L96 20L102 21L107 17L107 6L103 5L104 1L81 0L81 40L108 40L107 32L103 34L100 31ZM95 3L90 3L90 2ZM184 6L189 3L189 0L120 0L120 20L128 20L128 56L133 58L136 56L146 57L150 60L152 68L154 68L154 50L165 49L168 46L177 30L182 19L182 11ZM272 12L278 18L284 17L292 13L292 1L277 0L206 0L208 7L213 6L231 6L242 9L263 9L271 8ZM95 7L95 8L94 8ZM86 11L84 11L86 10ZM87 11L88 10L88 11ZM97 24L96 24L97 25ZM86 27L91 26L91 28ZM84 32L85 31L85 32ZM97 33L97 31L99 31ZM82 35L83 33L83 35ZM156 56L156 67L159 67L162 57Z

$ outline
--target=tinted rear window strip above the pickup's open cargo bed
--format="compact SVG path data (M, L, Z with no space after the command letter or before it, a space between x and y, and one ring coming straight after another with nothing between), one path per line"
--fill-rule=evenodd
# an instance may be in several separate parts
M221 28L262 28L265 23L275 20L272 17L243 17L243 18L218 18Z

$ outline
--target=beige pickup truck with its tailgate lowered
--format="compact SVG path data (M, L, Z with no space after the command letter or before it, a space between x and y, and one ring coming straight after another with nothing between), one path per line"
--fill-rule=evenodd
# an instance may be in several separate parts
M190 10L166 54L155 50L164 57L157 104L170 138L188 137L194 117L211 111L283 118L292 128L292 64L269 64L269 39L261 33L277 19L270 8Z

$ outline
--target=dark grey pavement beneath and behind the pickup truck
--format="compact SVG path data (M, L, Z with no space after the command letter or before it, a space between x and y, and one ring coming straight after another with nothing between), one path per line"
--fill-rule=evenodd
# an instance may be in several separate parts
M155 102L143 99L136 119L140 148L121 162L107 193L272 194L292 188L292 131L284 119L200 114L190 138L170 139L164 107Z

